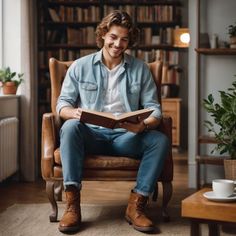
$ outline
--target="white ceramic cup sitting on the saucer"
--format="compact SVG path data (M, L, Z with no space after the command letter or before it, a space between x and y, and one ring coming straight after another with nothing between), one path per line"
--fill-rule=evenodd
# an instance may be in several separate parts
M212 181L212 190L216 197L229 197L234 193L235 182L229 179L215 179Z

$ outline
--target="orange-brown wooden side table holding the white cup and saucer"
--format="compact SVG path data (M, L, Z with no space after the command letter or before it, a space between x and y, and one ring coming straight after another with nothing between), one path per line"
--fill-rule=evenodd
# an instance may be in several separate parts
M219 225L222 223L236 223L236 202L213 202L207 200L203 193L211 191L201 189L182 201L182 217L190 219L191 236L200 234L200 224L208 224L209 236L218 236Z

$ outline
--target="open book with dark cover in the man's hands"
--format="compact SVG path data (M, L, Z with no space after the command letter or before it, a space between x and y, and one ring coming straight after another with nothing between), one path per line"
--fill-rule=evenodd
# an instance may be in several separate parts
M119 128L119 123L124 121L139 123L140 121L146 119L152 112L153 109L146 108L116 115L109 112L82 109L80 121L114 129Z

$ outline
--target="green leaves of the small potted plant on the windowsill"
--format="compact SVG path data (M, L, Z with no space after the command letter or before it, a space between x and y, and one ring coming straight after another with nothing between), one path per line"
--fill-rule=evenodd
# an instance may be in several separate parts
M6 67L0 70L0 81L4 85L6 82L14 82L18 87L23 82L23 73L17 74L16 72L12 72L10 67Z

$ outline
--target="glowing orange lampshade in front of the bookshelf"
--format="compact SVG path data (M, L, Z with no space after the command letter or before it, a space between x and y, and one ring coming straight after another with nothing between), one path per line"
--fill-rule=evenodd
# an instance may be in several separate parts
M174 47L187 48L190 43L190 34L188 28L174 29Z

